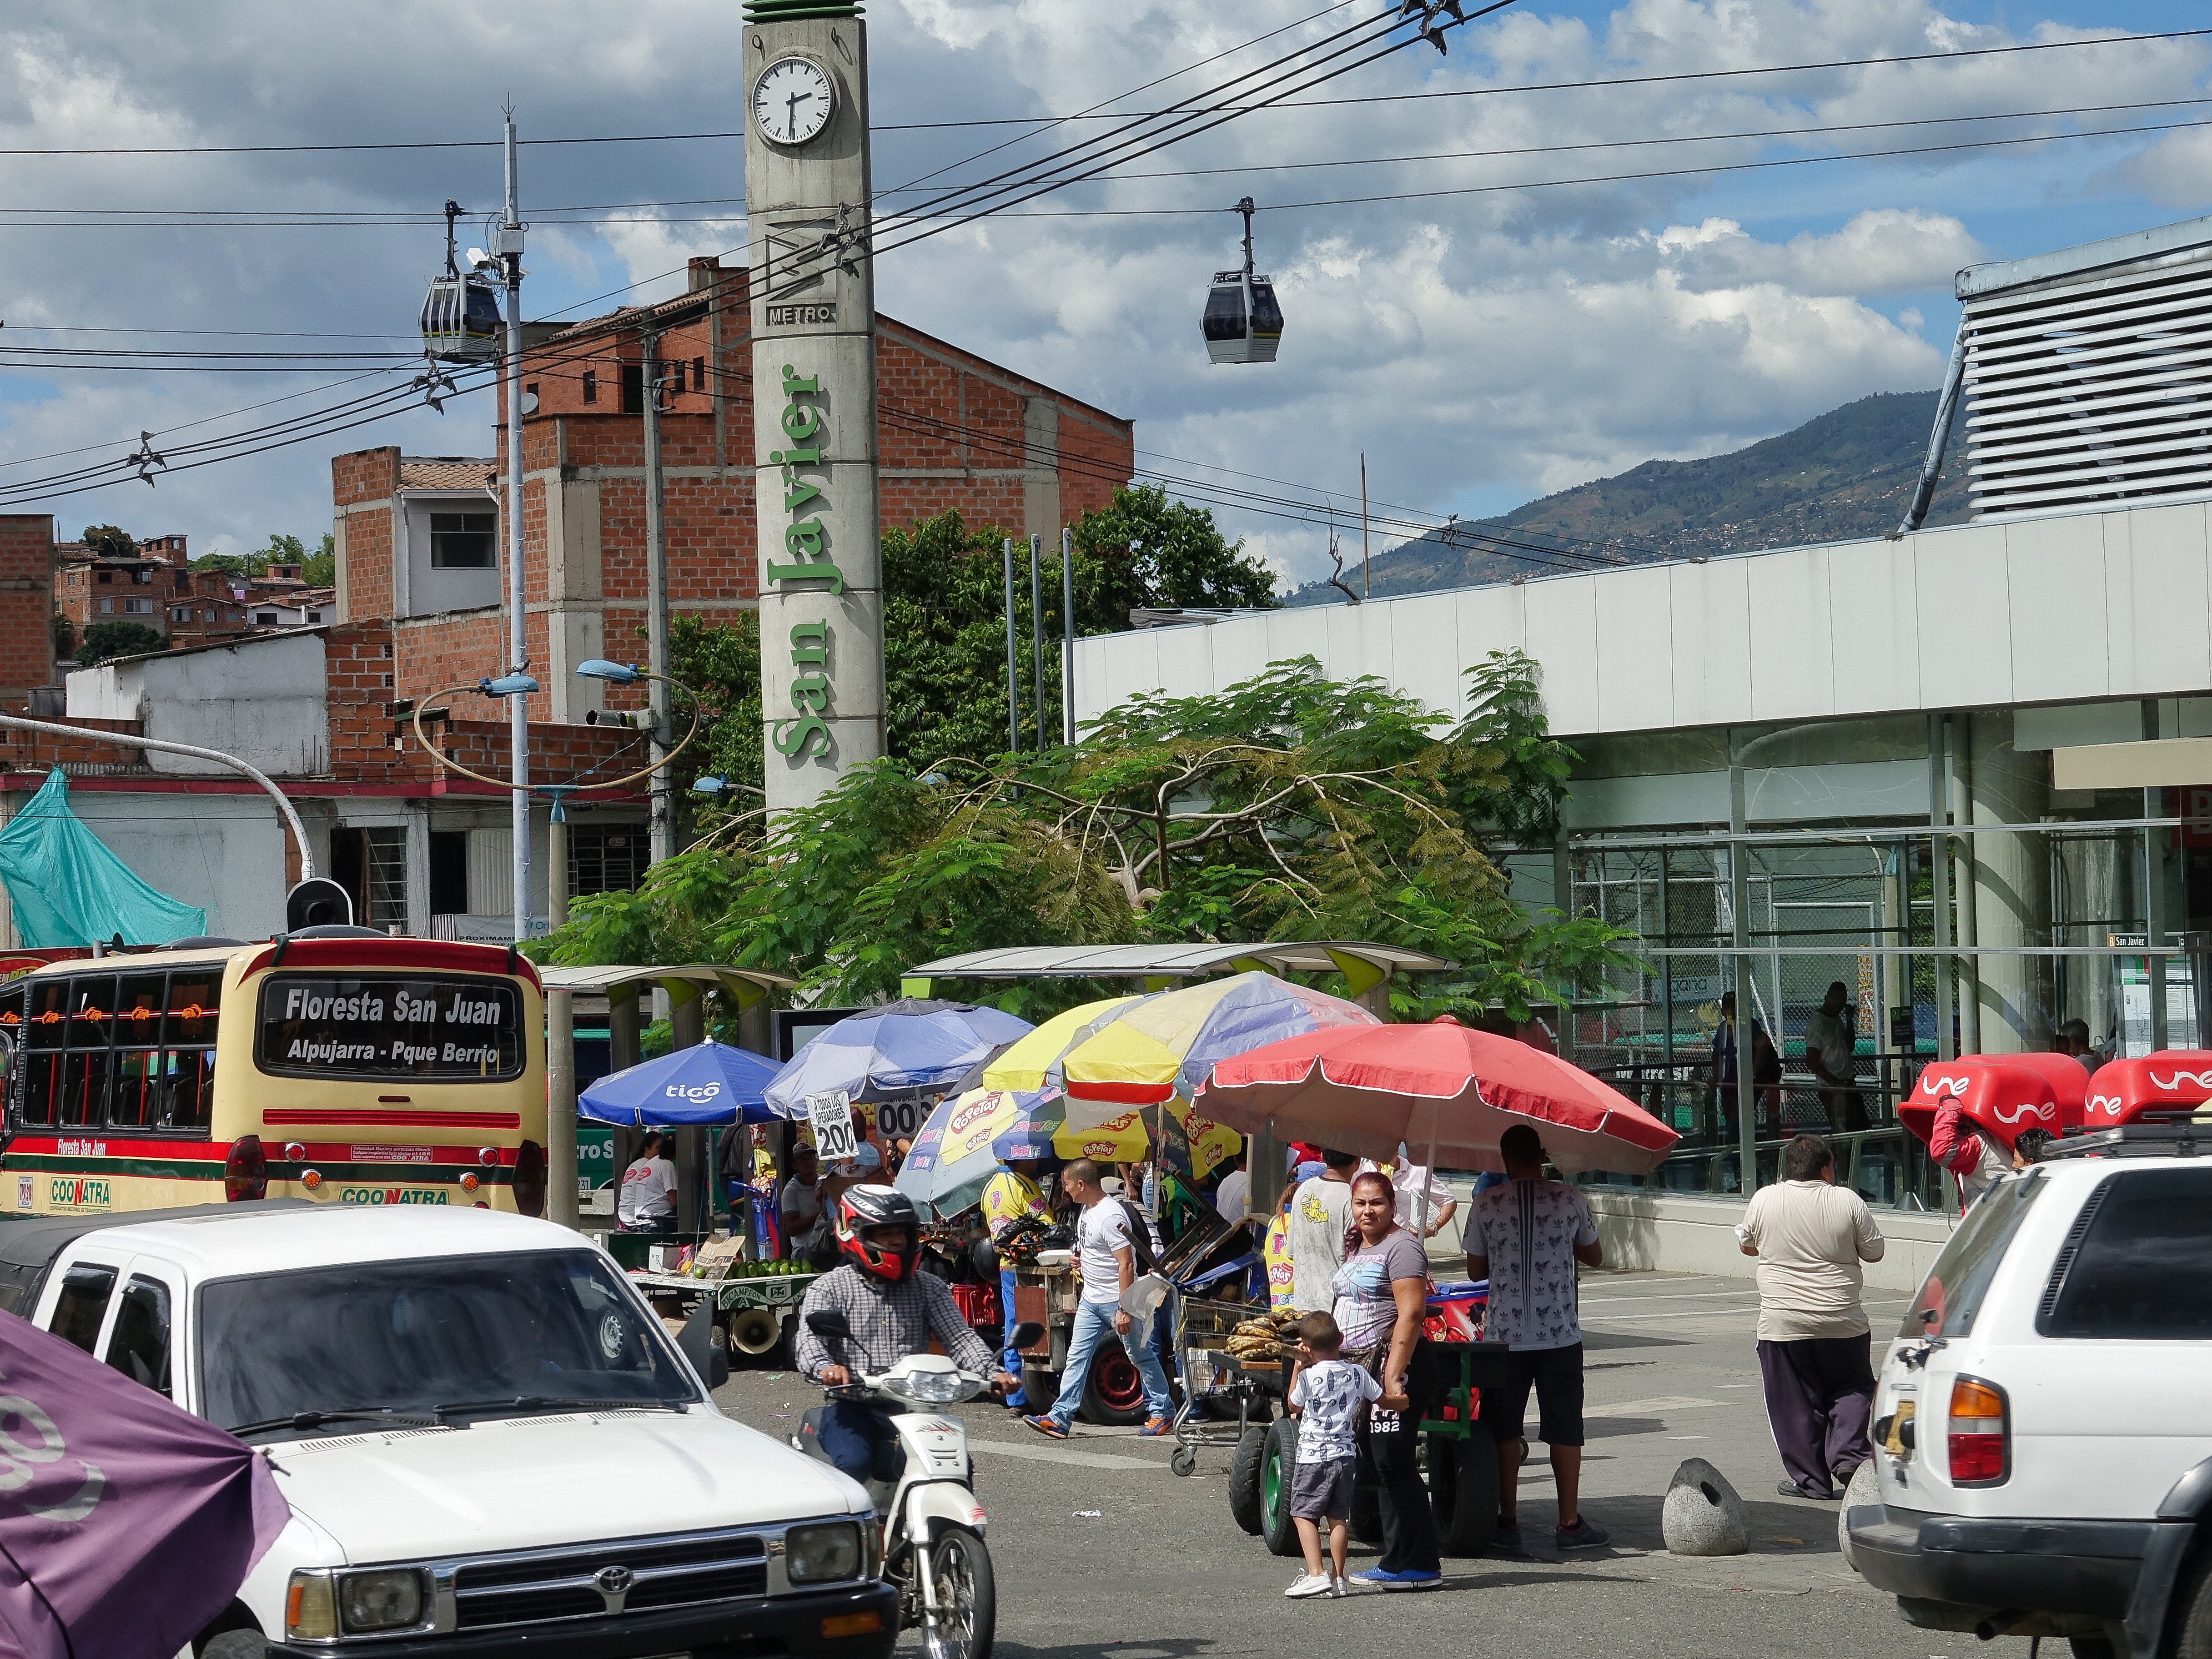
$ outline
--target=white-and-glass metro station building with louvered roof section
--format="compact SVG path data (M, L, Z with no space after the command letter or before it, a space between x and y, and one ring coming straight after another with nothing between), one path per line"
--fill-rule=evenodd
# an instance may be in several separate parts
M1650 964L1559 1042L1690 1130L1730 989L1785 1048L1792 1126L1825 1121L1801 1051L1836 980L1878 1124L1920 1062L2051 1048L2066 1020L2108 1053L2199 1046L2212 219L1958 292L1969 524L1093 637L1077 719L1292 657L1458 717L1469 668L1526 650L1582 763L1559 845L1500 858ZM1863 1186L1933 1194L1898 1135ZM1734 1181L1710 1137L1666 1172Z

